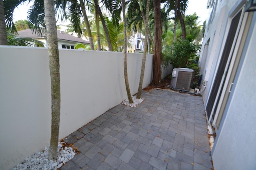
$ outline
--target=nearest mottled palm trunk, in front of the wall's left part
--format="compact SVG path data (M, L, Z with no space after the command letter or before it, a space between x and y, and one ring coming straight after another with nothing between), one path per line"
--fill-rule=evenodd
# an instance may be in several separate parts
M44 12L52 89L52 128L48 159L56 160L60 127L60 63L54 0L44 0Z

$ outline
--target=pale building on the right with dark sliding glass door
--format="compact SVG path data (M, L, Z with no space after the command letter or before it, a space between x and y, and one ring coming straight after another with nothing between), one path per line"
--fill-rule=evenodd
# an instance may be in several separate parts
M256 169L256 12L246 2L208 0L199 66L215 170Z

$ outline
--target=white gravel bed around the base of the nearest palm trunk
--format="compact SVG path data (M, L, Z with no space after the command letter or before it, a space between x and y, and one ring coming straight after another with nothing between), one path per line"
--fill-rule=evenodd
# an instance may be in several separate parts
M45 147L44 151L37 151L34 155L29 156L23 162L10 170L56 170L63 164L71 160L76 152L72 147L62 147L62 143L58 143L57 161L48 160L49 147Z

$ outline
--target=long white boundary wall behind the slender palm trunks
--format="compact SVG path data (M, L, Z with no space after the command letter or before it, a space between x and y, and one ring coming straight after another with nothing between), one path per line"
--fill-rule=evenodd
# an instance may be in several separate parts
M130 90L138 90L142 54L127 54ZM143 88L152 81L146 58ZM123 53L60 50L62 139L126 97ZM51 89L46 48L0 46L0 169L50 145ZM143 96L142 96L143 97Z

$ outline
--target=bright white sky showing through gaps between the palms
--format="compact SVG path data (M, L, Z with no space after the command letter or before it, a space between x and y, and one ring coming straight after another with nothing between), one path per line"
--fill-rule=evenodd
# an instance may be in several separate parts
M201 21L200 24L203 24L204 20L206 20L208 16L208 9L206 9L207 6L207 0L188 0L188 9L186 11L186 15L191 15L196 13L197 16L200 16L198 21ZM26 20L27 19L27 11L29 7L33 4L33 2L30 2L30 4L27 5L23 4L18 6L14 10L14 16L13 20ZM58 24L58 23L57 23ZM60 23L59 23L60 24Z

